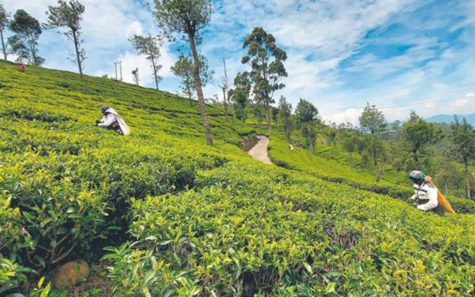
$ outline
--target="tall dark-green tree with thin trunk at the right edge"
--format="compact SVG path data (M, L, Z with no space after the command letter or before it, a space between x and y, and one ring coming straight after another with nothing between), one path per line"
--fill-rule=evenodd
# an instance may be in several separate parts
M450 124L452 128L453 151L459 160L463 162L465 171L465 196L471 198L470 193L470 172L468 164L475 159L475 130L463 118L462 122L455 117L454 122Z

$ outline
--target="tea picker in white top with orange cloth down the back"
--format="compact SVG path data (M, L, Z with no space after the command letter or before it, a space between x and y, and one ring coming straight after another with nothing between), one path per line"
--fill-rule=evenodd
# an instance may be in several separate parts
M422 171L414 170L409 173L409 179L414 183L414 195L410 199L417 202L417 209L438 214L455 213L430 176L426 176Z

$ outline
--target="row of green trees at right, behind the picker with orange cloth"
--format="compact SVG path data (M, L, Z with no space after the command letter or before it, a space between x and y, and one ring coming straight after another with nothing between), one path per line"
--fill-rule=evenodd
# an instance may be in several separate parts
M374 105L367 104L359 122L361 132L369 136L368 143L370 143L376 180L381 179L385 160L393 162L392 165L400 170L427 168L430 157L434 157L428 147L438 144L448 136L449 146L442 152L442 155L450 156L453 161L461 162L464 168L465 196L471 197L469 164L475 160L475 130L465 119L459 121L455 117L450 124L448 135L444 135L440 128L425 121L415 111L411 111L408 121L402 126L400 123L393 123L390 127L383 113ZM388 144L386 146L384 145L385 139ZM392 151L392 160L388 160L386 154L388 147ZM347 147L347 150L354 151L354 148L348 149ZM401 160L401 156L403 160ZM403 163L397 164L394 161ZM442 165L443 162L439 161L438 164ZM435 167L433 170L437 173L446 172L446 168L443 166L435 165ZM447 178L448 176L444 180L446 181Z

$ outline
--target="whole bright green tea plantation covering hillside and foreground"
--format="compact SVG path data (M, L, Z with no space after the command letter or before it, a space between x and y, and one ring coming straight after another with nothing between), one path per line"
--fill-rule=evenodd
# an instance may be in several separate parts
M94 126L103 105L130 136ZM252 127L208 113L212 147L196 103L0 62L0 296L35 295L28 283L71 259L106 263L116 296L475 293L473 202L422 213L409 186L278 134L280 166L261 164L240 148Z

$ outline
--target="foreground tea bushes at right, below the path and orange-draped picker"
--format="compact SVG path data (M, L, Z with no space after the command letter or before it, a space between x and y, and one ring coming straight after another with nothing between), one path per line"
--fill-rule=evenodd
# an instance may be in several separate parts
M244 162L197 184L134 200L137 241L106 256L118 295L474 292L474 215L422 214L388 196Z

